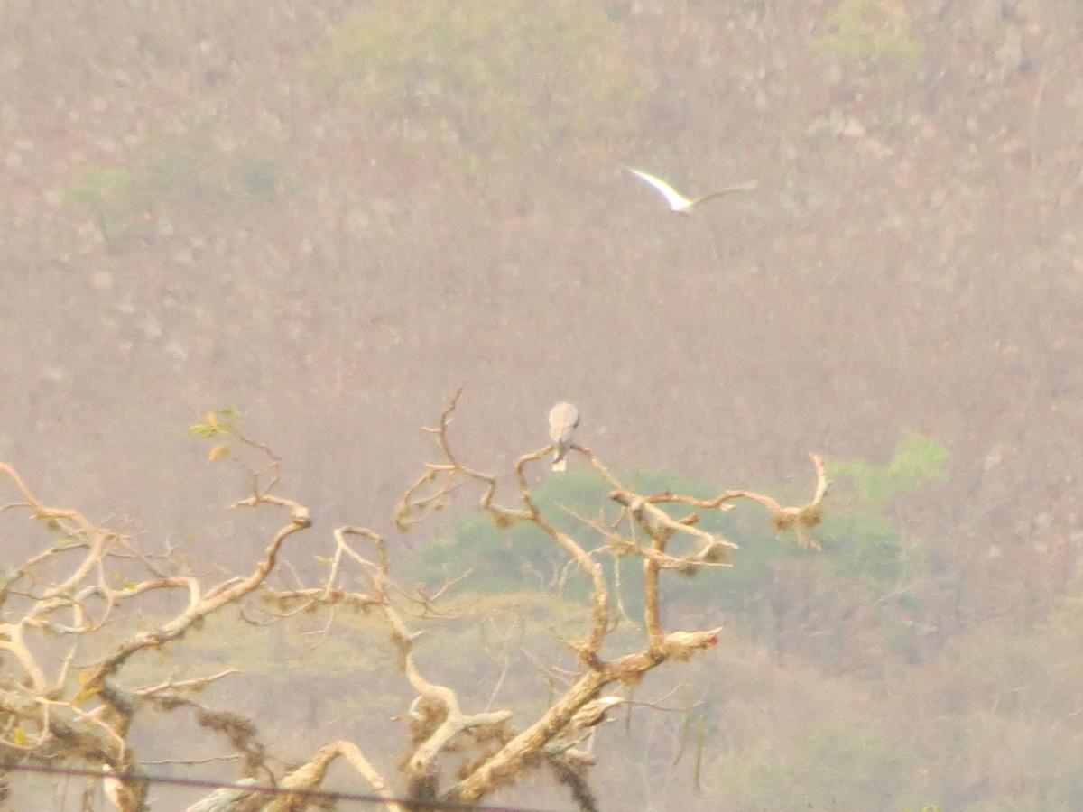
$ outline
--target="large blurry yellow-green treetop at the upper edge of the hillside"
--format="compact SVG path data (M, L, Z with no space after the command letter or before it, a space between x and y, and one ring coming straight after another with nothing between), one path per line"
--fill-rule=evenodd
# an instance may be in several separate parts
M627 134L645 96L590 0L376 0L330 28L309 75L403 145L486 163Z

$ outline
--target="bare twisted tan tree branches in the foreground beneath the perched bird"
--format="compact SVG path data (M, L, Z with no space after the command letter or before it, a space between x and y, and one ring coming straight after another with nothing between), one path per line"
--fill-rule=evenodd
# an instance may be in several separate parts
M536 719L519 719L510 709L467 707L455 685L441 684L427 675L415 659L415 644L425 633L426 618L441 611L443 593L455 584L434 593L396 584L389 572L391 552L384 539L367 527L341 526L323 538L318 532L306 533L311 521L305 506L275 493L280 488L277 457L246 436L235 417L211 415L193 427L193 433L213 442L211 458L239 466L251 485L250 493L231 508L282 516L280 526L270 534L263 553L247 572L218 577L185 574L168 554L151 555L78 510L45 505L12 466L0 463L10 494L0 514L10 533L16 532L16 522L29 519L38 547L6 569L0 595L4 665L0 725L5 769L15 771L21 764L103 769L109 776L106 788L112 802L125 812L143 810L153 793L146 765L129 741L133 721L153 718L152 723L165 724L168 713L186 711L227 743L249 781L261 786L317 790L329 765L341 759L356 772L357 787L384 798L388 809L401 810L408 806L403 798L478 802L500 787L548 770L580 808L592 809L589 768L604 755L593 756L589 745L584 749L585 742L592 738L608 711L626 702L605 692L635 686L650 670L670 660L688 660L718 642L719 628L678 629L663 623L660 574L676 569L710 577L712 569L730 566L729 552L736 545L700 529L699 512L675 519L676 511L666 508L726 511L738 500L751 500L770 512L777 528L793 531L798 543L815 545L808 532L820 521L827 489L823 464L811 456L815 477L811 500L785 507L749 490L728 490L712 499L669 492L638 494L623 485L589 448L573 444L570 451L609 484L609 499L618 506L612 521L583 523L584 529L601 527L606 538L605 545L588 549L575 534L558 529L535 500L532 477L547 470L545 458L552 453L552 444L519 457L510 472L513 499L507 503L497 499L498 476L472 468L466 455L453 447L449 428L461 392L460 388L451 397L438 424L425 429L435 443L436 459L406 488L394 510L395 522L402 529L412 528L426 522L453 493L473 492L478 509L498 527L535 525L588 579L587 631L563 641L575 655L575 673L545 712ZM301 543L302 533L306 533L310 550L326 556L326 577L308 585L295 579L286 588L272 586L270 576L280 569L286 548ZM634 618L638 643L611 653L605 645L617 612L605 567L618 558L641 561L638 571L645 600L642 616ZM158 616L168 606L168 617L140 628L133 618L144 605L154 607L149 616ZM409 744L400 764L375 763L375 758L366 756L371 743L334 741L305 763L282 770L272 745L261 739L257 722L198 700L212 683L240 679L234 669L155 684L129 678L128 667L138 657L173 646L194 627L231 606L239 607L245 617L261 617L260 623L299 613L331 618L343 606L379 613L397 655L397 671L417 697L403 709ZM335 633L334 625L326 633ZM364 697L357 699L364 702ZM195 760L193 754L175 757ZM229 789L218 790L192 809L303 809L311 801L302 794Z

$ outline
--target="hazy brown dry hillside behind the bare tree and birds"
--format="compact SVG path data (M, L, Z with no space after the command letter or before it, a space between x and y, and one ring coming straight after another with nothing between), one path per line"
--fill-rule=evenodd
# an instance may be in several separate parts
M739 518L734 568L673 585L725 631L642 689L680 712L599 731L602 807L1083 808L1078 0L2 16L0 460L42 498L243 568L265 536L187 433L235 406L317 528L387 533L419 579L474 567L459 611L546 638L575 595L545 550L521 561L467 500L394 531L460 382L452 433L484 470L544 445L560 400L660 487L799 494L815 451L824 551ZM626 165L758 185L680 217ZM577 462L537 483L550 503L593 487ZM4 558L40 541L21 526ZM485 628L429 644L487 691L511 632ZM223 620L185 667L236 659L205 700L298 757L393 744L410 695L360 631L308 654Z

